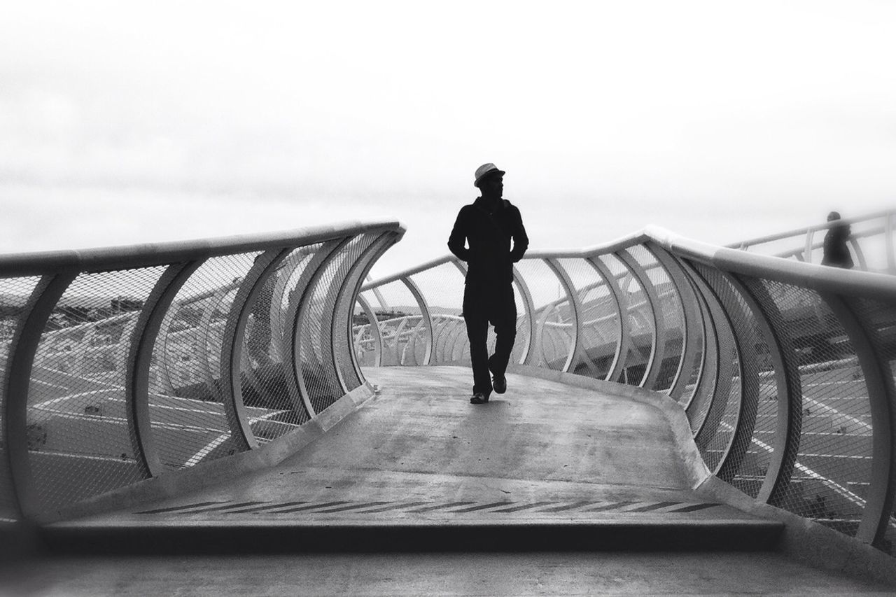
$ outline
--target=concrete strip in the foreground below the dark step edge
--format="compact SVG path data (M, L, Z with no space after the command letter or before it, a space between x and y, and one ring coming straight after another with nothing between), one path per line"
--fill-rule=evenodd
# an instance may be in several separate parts
M326 554L67 558L0 570L33 595L892 595L777 554Z

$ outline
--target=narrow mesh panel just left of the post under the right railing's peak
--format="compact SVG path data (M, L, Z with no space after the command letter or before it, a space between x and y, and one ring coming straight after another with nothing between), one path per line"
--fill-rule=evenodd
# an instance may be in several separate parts
M682 353L685 350L685 312L681 305L675 284L656 257L646 247L632 247L629 253L641 264L644 273L657 293L659 305L656 307L662 321L662 338L657 342L665 342L662 350L662 362L659 363L659 376L652 390L668 392L675 381Z

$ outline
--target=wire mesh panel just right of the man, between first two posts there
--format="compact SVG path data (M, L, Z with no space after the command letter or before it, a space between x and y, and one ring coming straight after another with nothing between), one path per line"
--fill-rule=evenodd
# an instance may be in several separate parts
M562 370L574 348L575 318L571 298L544 261L523 259L516 267L529 287L535 307L535 338L528 362ZM493 350L491 345L489 350Z

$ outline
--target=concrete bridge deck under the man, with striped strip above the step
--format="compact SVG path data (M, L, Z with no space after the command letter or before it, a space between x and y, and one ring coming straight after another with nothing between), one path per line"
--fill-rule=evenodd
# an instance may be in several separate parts
M655 406L529 376L372 368L377 395L279 466L79 524L759 523L690 487Z

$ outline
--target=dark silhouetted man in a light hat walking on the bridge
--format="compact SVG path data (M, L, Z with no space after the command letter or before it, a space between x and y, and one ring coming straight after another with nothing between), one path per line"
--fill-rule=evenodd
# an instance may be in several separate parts
M493 389L498 394L507 390L504 374L516 338L513 264L529 248L529 237L522 226L520 210L502 196L504 170L497 169L495 164L483 164L476 169L473 186L478 187L481 195L461 207L448 238L448 248L467 262L463 319L467 324L473 366L470 402L482 404L488 402ZM495 354L491 357L486 344L488 324L495 326L496 336Z

